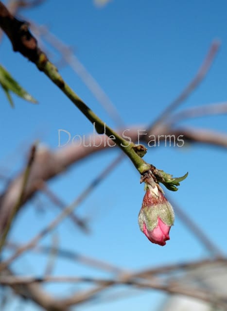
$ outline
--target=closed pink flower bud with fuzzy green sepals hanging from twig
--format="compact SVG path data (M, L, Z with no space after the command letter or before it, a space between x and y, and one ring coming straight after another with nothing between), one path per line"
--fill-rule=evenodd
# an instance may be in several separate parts
M146 193L139 213L140 230L152 243L163 246L170 239L174 210L152 177L146 179L145 184Z

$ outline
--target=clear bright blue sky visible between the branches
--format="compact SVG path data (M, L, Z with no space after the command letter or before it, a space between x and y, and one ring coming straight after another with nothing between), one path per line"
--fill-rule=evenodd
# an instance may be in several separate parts
M47 0L40 7L24 12L23 17L47 25L54 35L74 48L78 59L114 103L125 127L136 124L141 127L155 120L192 79L213 39L221 41L220 51L205 80L179 110L227 100L227 4L224 0L206 3L201 0L112 0L102 9L91 0L65 0L64 3ZM0 167L7 168L10 176L21 168L35 139L57 149L58 129L67 130L72 136L92 132L90 122L43 73L12 51L7 38L0 47L0 64L39 102L34 105L14 96L16 108L12 109L0 91ZM64 67L60 73L94 112L108 125L116 127L72 69ZM227 131L226 124L226 116L180 123L223 133ZM111 148L93 155L52 180L51 189L69 204L118 154L117 149ZM166 190L166 193L226 253L226 150L196 144L185 148L160 146L149 148L145 160L175 176L189 172L177 192ZM59 245L129 270L208 255L177 215L171 240L164 247L150 243L140 232L137 220L143 195L139 174L130 161L124 159L78 207L79 215L91 217L92 234L84 235L66 220L55 230ZM11 240L30 240L57 215L58 209L48 199L40 196L40 200L45 203L46 212L37 212L34 201L27 204L17 217ZM50 236L42 241L45 245L50 243ZM44 256L29 253L17 260L15 268L20 273L41 275L45 265ZM54 274L105 276L102 271L64 260L57 261ZM70 285L70 289L65 285L48 285L50 291L60 294L75 288L77 285ZM78 310L156 310L163 294L143 293L108 304L87 304ZM8 310L14 307L9 304Z

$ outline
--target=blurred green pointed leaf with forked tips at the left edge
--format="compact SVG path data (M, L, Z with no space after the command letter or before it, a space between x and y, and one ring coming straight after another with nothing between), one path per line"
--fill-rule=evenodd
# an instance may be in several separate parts
M24 100L36 104L37 101L25 89L23 89L11 74L0 65L0 85L2 86L10 104L14 107L13 100L10 96L10 91L17 94L17 96Z

